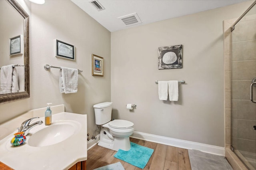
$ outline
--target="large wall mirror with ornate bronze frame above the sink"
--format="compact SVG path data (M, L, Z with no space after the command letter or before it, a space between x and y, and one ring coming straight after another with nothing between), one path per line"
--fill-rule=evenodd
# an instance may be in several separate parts
M22 65L20 67L15 67L15 69L18 72L18 77L19 77L18 81L19 81L20 89L18 91L12 91L10 93L0 94L0 103L2 104L2 103L8 103L11 101L17 101L17 100L26 99L26 98L30 97L30 89L29 89L29 15L20 6L20 4L18 4L18 2L16 2L16 0L0 0L0 2L2 3L0 5L0 8L4 8L3 6L5 6L6 8L8 6L14 7L14 8L8 7L8 8L10 8L8 11L6 11L6 8L4 8L4 10L0 9L0 11L4 11L4 15L1 14L1 16L4 16L4 17L0 18L0 25L5 26L7 28L7 29L6 28L4 29L4 27L0 27L0 46L1 46L1 48L0 48L1 49L0 50L0 67L2 67L4 65L10 65L10 63L14 64L14 66ZM3 3L6 3L6 4L3 4ZM15 17L15 19L12 17ZM21 18L21 20L17 19L17 18ZM13 22L13 21L15 21L15 22ZM6 26L6 24L8 24L8 26ZM7 39L9 39L8 41L2 40L4 35L8 35L8 36L12 35L12 34L8 34L9 32L12 32L12 34L14 34L14 36L8 37L7 38ZM20 34L20 32L21 32L21 34ZM18 35L16 35L16 34L18 34ZM22 38L20 38L18 40L20 40L20 42L19 42L21 45L20 49L23 48L23 50L20 50L21 52L18 54L10 55L10 51L13 50L13 48L11 48L12 44L14 44L12 42L14 42L14 40L16 39L14 37L20 36L20 35L21 35L21 37L23 37L23 41L22 41ZM14 38L14 39L12 39L12 38ZM8 55L6 55L6 48L7 48ZM15 50L16 49L14 49L12 52L15 53Z

